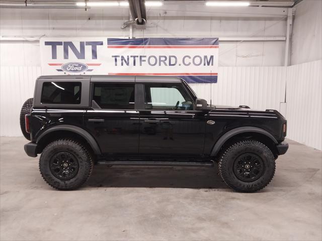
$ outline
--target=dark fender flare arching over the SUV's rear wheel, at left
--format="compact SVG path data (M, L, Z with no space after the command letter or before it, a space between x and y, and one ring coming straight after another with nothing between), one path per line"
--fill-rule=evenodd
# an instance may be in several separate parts
M99 145L97 144L96 140L94 137L88 133L86 130L80 128L80 127L75 127L75 126L69 126L69 125L59 125L59 126L54 126L52 128L47 129L44 131L38 138L36 143L38 144L42 138L44 138L46 135L49 133L55 132L55 131L69 131L78 134L79 136L83 137L88 144L92 147L94 154L96 155L101 155L101 149Z

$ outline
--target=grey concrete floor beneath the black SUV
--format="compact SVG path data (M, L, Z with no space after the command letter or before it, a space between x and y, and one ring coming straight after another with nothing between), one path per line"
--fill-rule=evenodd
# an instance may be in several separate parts
M217 168L98 167L76 191L1 138L1 240L321 240L321 152L289 141L271 184L236 193Z

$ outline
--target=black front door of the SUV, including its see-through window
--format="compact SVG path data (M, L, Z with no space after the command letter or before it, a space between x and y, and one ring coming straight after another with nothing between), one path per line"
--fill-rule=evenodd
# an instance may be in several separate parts
M201 156L205 118L194 110L192 96L182 83L144 84L140 109L142 155Z

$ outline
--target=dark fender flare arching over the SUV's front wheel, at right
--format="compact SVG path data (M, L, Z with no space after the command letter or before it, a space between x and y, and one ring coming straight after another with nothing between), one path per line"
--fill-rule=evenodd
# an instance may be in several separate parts
M212 148L211 156L212 157L216 156L218 154L218 152L220 151L221 147L223 146L223 144L227 140L229 140L230 138L232 138L235 135L238 135L240 133L246 133L246 132L255 132L255 133L263 134L263 135L267 136L268 138L270 138L275 144L278 144L277 140L275 139L275 137L273 137L272 134L270 134L268 131L265 131L265 130L263 130L261 128L257 128L257 127L238 127L238 128L230 130L229 132L226 132L223 136L221 136L218 139L218 141L216 142L216 144Z

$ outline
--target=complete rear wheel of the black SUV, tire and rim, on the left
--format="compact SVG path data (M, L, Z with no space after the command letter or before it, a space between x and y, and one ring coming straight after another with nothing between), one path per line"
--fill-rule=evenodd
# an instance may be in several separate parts
M39 159L44 180L58 190L72 190L83 185L93 170L93 158L86 147L73 140L48 144Z

